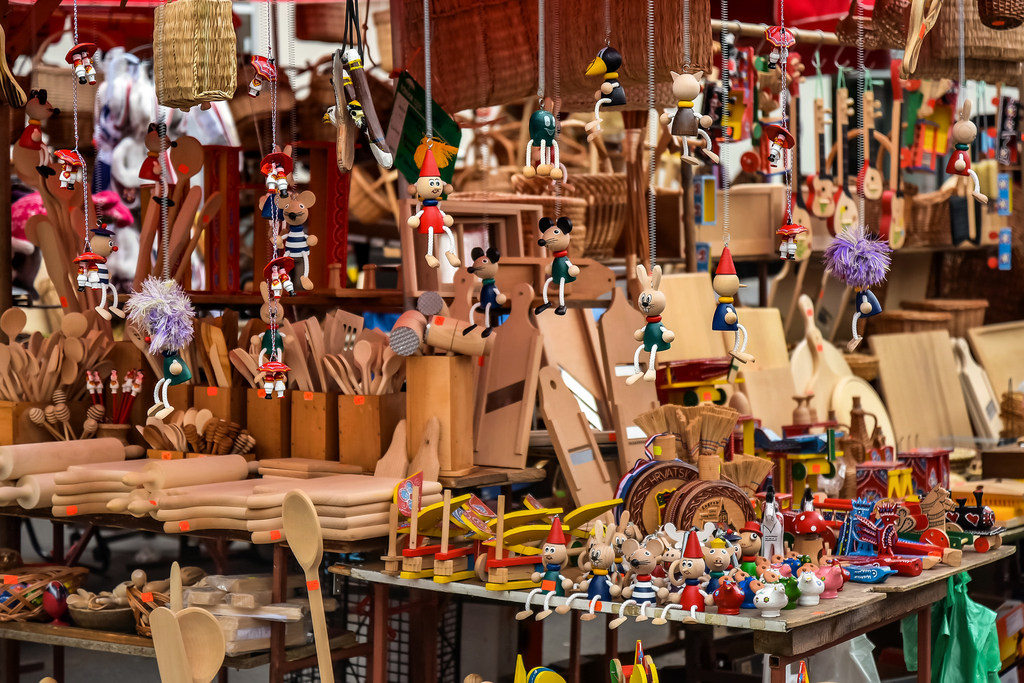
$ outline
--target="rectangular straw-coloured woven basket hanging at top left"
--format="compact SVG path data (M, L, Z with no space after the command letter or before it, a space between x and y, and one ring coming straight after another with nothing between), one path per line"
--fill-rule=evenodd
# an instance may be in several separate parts
M157 99L186 110L234 94L236 37L230 0L159 5L153 27Z

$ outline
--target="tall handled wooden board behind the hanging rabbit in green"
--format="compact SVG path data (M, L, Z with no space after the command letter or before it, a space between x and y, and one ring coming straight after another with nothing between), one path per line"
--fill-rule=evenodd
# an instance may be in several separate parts
M644 325L643 314L630 305L626 295L617 288L611 293L611 305L597 322L621 472L628 472L637 460L644 457L647 435L633 424L633 420L641 413L658 407L653 382L626 384L626 378L633 374L633 355L638 345L633 339L633 332Z

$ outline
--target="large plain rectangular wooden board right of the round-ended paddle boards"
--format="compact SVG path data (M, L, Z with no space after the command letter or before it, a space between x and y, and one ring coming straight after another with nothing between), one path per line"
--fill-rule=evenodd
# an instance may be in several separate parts
M971 437L971 419L949 333L871 335L879 384L899 439L906 446L943 447Z

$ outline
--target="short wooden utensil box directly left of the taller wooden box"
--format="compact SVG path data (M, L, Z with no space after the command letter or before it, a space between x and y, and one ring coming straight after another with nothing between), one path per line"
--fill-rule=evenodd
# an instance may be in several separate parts
M391 444L394 428L406 419L406 394L338 396L338 456L341 462L373 472Z

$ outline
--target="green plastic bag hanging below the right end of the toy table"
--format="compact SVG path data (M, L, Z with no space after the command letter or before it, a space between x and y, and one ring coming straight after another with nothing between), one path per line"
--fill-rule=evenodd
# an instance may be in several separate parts
M995 612L967 595L971 577L952 575L947 595L932 605L933 683L980 683L999 680L999 637ZM903 659L909 671L918 671L918 617L900 624Z

